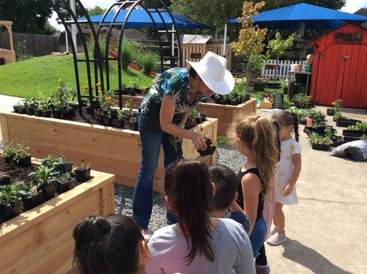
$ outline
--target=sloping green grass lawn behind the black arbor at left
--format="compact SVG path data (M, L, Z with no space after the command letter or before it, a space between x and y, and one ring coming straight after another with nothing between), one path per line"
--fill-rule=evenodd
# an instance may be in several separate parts
M94 69L92 71L93 84ZM117 77L116 66L111 66L110 85L113 89L117 89ZM58 79L63 79L68 86L74 86L72 55L43 56L0 66L0 94L16 97L50 95L58 86ZM150 86L154 77L129 69L123 72L122 79L123 84ZM80 64L80 85L82 87L86 84L86 65Z

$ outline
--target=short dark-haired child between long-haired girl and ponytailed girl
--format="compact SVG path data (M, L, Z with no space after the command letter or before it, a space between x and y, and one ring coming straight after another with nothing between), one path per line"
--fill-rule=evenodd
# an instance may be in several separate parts
M211 182L215 185L215 195L211 199L211 216L232 219L240 223L247 233L250 228L248 218L235 202L238 196L236 173L222 164L209 166L209 173Z

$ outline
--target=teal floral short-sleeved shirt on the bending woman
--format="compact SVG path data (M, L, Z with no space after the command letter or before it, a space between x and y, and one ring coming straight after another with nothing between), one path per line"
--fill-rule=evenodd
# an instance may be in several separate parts
M198 97L196 101L189 104L189 93L189 71L187 68L169 69L154 79L152 87L141 101L141 112L149 113L151 100L161 104L163 95L167 95L175 104L175 114L188 112L195 108L200 101L200 97Z

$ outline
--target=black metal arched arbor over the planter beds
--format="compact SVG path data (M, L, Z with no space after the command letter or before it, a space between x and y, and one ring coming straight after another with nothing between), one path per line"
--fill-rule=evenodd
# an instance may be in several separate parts
M161 1L162 5L165 7L165 10L161 10L158 8L146 8L144 3L150 3L150 0L117 0L115 3L110 5L110 8L106 10L104 13L104 16L102 17L101 22L99 23L99 26L97 28L97 32L95 31L95 27L93 26L93 23L91 21L91 18L88 16L88 12L82 5L80 0L75 0L75 5L78 5L80 8L80 11L82 12L82 16L86 18L86 22L80 23L78 21L78 16L71 10L69 3L67 0L49 0L49 3L51 4L51 7L55 10L55 12L58 14L58 17L60 18L60 21L62 25L65 27L66 35L68 36L69 40L71 42L71 51L73 53L73 62L74 62L74 70L75 70L75 82L76 82L76 91L78 94L78 103L79 103L79 111L80 114L82 114L82 99L86 98L91 103L91 112L94 115L94 105L93 105L93 99L95 96L97 96L97 83L101 83L102 90L110 90L110 69L109 69L109 62L110 61L117 61L117 67L118 67L118 86L119 86L119 108L122 108L122 66L121 66L121 48L122 48L122 42L123 42L123 33L126 29L126 23L128 22L128 18L130 17L130 14L132 10L135 8L142 8L147 12L148 16L150 16L150 19L152 20L152 23L154 25L154 33L157 34L158 40L159 40L159 47L161 49L161 72L163 71L163 45L161 36L159 34L165 33L167 34L167 39L169 42L169 60L178 60L178 65L182 66L182 60L180 59L180 53L181 53L181 45L180 45L180 39L177 39L178 42L178 55L174 55L174 51L172 51L172 44L174 41L172 41L172 37L169 34L175 33L176 37L178 37L178 29L176 27L176 23L174 20L174 16L172 16L171 12L169 12L167 5L163 1ZM117 22L117 17L119 16L119 13L122 10L127 10L128 12L125 16L125 19L122 23ZM64 19L65 11L67 13L68 17L71 17L70 21L66 21ZM110 22L106 21L106 16L110 13L114 12L113 19ZM169 29L167 23L165 22L165 19L162 15L163 12L167 12L169 14L169 17L171 18L172 23L174 24L174 29ZM158 14L159 18L161 18L161 22L164 25L164 29L159 30L157 26L157 22L154 21L154 17L152 14ZM94 40L94 52L93 57L91 58L90 53L88 52L88 41L86 37L84 37L82 32L82 26L81 25L88 25L88 27L91 28L91 40ZM71 35L71 27L75 25L78 29L78 32L80 34L80 40L82 42L82 46L84 49L84 56L85 58L80 58L81 55L77 55L77 49L75 49L76 42L74 43L73 37ZM107 28L108 32L106 35L106 49L105 52L101 51L101 47L99 45L99 37L101 36L102 28ZM119 34L119 41L118 41L118 55L117 58L110 57L109 51L110 51L110 38L111 34L113 32L114 27L121 27L121 32ZM171 40L169 40L171 39ZM82 95L80 92L80 68L78 64L86 64L86 75L88 79L88 95ZM173 66L174 62L170 62L170 66ZM94 83L92 79L92 70L94 70ZM106 79L105 79L106 77ZM94 95L93 95L94 90Z

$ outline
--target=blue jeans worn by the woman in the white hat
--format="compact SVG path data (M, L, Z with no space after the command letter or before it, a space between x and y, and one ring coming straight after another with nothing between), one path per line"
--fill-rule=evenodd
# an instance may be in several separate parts
M132 196L132 215L141 229L147 229L153 208L153 179L158 166L159 150L163 146L165 153L165 168L174 162L174 147L172 147L167 134L154 134L147 132L147 115L139 114L139 132L141 140L141 164L137 183ZM167 213L168 220L174 217Z

